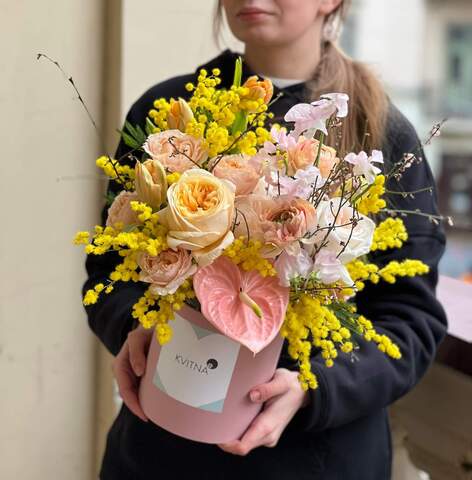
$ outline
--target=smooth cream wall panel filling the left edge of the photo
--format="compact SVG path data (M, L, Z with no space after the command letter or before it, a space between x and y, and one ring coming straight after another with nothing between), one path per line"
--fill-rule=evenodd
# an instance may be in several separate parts
M93 336L77 229L97 220L102 2L0 0L0 478L90 478Z

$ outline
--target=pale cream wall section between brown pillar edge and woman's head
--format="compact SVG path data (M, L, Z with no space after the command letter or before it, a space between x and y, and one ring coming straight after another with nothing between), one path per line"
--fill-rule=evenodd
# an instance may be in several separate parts
M216 0L123 0L123 114L155 83L193 72L218 54L215 5ZM225 39L225 46L240 48L229 35Z

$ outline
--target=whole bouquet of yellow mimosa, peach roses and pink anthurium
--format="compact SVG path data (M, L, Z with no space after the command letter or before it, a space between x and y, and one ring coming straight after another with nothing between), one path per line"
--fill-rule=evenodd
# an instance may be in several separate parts
M331 367L338 355L354 357L363 338L399 359L398 346L354 300L366 282L428 272L418 260L369 259L408 238L384 196L386 179L412 158L383 173L380 151L340 155L327 146L348 115L341 93L292 107L285 121L293 128L269 131L271 82L241 77L240 61L229 89L219 87L218 69L201 70L197 84L186 85L188 102L157 99L145 130L125 125L134 168L97 160L122 191L106 226L79 232L75 243L123 260L84 304L116 282L145 282L132 315L155 328L160 344L171 341L174 312L188 303L254 354L282 335L304 389L317 387L315 351Z

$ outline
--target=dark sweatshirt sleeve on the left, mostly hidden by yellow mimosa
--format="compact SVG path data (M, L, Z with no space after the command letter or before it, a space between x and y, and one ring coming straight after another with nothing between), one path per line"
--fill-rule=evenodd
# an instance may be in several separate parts
M136 109L135 104L126 116L126 120L133 126L143 124L143 118L141 118L143 115L139 110ZM121 158L130 150L121 139L114 158ZM131 165L131 162L125 158L120 163ZM108 183L108 193L116 194L119 191L120 186L116 182ZM104 206L101 215L102 225L105 225L107 210L107 206ZM88 278L82 287L82 294L97 283L105 284L109 274L121 261L122 257L115 251L103 255L87 255L85 268ZM85 307L90 328L113 355L120 351L128 332L133 328L132 307L145 289L145 285L141 282L117 282L112 292L102 294L96 304Z

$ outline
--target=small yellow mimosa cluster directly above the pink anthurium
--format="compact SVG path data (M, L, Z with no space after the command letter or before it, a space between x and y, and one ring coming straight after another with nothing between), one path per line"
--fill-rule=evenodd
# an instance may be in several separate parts
M277 272L273 264L261 256L262 247L262 243L258 240L247 241L244 237L240 237L224 250L223 255L246 272L257 270L263 277L274 277Z

